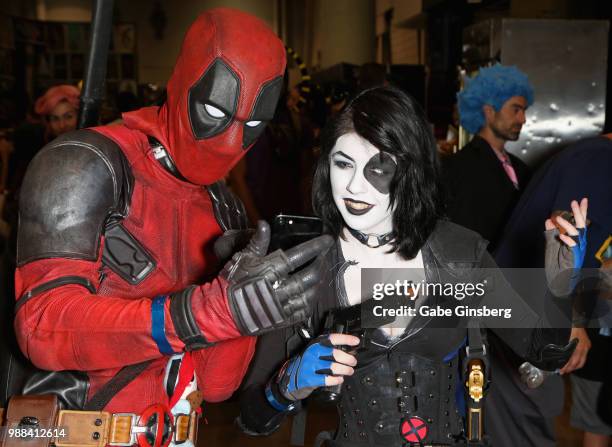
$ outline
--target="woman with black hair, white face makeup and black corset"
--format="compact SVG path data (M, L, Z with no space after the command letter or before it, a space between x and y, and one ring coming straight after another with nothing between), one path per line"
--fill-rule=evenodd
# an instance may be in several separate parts
M441 219L438 181L430 127L414 100L396 88L360 93L326 128L313 206L337 243L321 267L326 276L309 324L260 340L258 350L265 355L251 365L254 374L241 398L238 423L246 433L271 433L314 390L342 384L335 396L340 424L329 445L443 446L468 438L470 445L485 445L481 430L466 429L464 401L471 399L467 411L475 413L481 403L474 389L469 394L464 387L463 361L476 360L485 386L487 362L480 331L468 328L469 318L454 312L459 307L511 309L509 321L495 316L479 321L538 366L555 369L569 358L574 347L565 346L569 329L543 330L542 320L496 269L486 241ZM586 200L572 203L577 228L584 227L586 207ZM558 224L578 243L565 235L560 236L564 244L557 242L554 225L547 222L550 259L571 262L551 262L551 273L579 267L584 245L584 230L563 219ZM385 309L413 311L389 320L378 318L380 309L372 314L376 306L368 305L383 301L362 286L366 268L401 268L412 284L439 283L453 290L459 283L494 286L471 298L436 291L395 297ZM440 318L422 312L425 308L440 309ZM442 318L447 311L452 316ZM527 337L517 336L517 324L531 328ZM463 353L466 343L469 355ZM472 422L479 420L476 415Z

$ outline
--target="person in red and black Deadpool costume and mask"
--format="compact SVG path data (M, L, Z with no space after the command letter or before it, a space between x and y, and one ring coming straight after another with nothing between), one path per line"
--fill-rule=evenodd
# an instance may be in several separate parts
M168 404L172 353L186 352L205 400L237 388L255 345L244 335L287 323L287 309L268 277L253 286L216 276L213 242L246 228L219 180L273 117L284 69L283 44L263 22L208 11L187 32L162 107L64 135L34 159L20 204L15 325L37 367L85 371L91 397L122 367L151 361L111 412ZM266 319L279 304L281 315Z

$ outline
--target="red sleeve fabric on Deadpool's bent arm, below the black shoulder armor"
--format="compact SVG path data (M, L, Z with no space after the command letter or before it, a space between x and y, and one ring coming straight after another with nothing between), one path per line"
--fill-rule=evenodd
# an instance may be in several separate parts
M43 259L21 266L16 272L19 298L48 281L65 277L85 278L97 289L100 261ZM215 279L194 290L194 318L208 342L239 337L227 305L226 284ZM15 330L24 354L47 370L92 371L162 357L151 335L153 297L127 299L100 296L84 286L68 284L17 302ZM165 303L165 334L172 349L184 350Z

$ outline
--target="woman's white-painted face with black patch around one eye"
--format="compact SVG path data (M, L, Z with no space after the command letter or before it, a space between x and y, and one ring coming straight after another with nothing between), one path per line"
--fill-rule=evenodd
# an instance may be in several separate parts
M397 165L355 132L342 135L330 155L330 181L334 203L344 223L365 234L393 230L389 184Z

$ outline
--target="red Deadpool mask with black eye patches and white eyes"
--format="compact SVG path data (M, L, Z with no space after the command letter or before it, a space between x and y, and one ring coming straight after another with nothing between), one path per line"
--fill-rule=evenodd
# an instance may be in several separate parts
M191 183L223 178L274 116L285 48L259 19L232 9L187 31L158 116L168 153Z

